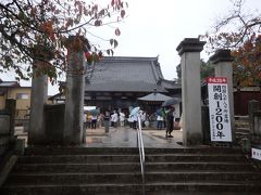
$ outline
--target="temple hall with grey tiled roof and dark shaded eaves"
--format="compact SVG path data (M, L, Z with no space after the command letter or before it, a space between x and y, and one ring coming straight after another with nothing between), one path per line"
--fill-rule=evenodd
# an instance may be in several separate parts
M163 78L158 57L104 57L86 78L85 105L96 105L101 112L121 108L127 113L129 107L140 105L138 98L154 90L182 96L181 84Z

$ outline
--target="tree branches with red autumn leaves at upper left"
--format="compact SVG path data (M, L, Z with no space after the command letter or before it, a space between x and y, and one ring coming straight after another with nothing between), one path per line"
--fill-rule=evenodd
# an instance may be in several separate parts
M20 69L15 62L33 64L32 62L36 53L45 58L47 55L42 53L41 49L37 50L37 52L35 50L33 52L33 49L34 46L46 46L52 49L51 53L53 55L51 56L57 61L55 63L50 61L50 65L57 67L57 73L48 66L50 72L45 70L45 74L47 73L48 76L54 78L54 80L55 77L53 74L66 69L66 53L69 50L70 52L88 51L84 54L89 63L97 62L102 57L102 52L99 52L101 50L100 48L97 49L89 43L89 47L86 48L86 44L80 39L69 43L67 40L70 36L87 37L87 35L94 34L94 37L99 37L95 35L96 31L91 31L94 29L91 27L120 23L126 17L125 8L127 8L127 3L125 3L124 0L109 0L109 3L99 1L99 4L97 1L84 0L37 0L20 2L20 4L10 3L9 1L1 2L2 6L12 11L10 13L1 13L4 18L1 28L8 29L8 34L12 35L9 37L15 37L18 41L10 41L9 38L3 37L1 49L3 49L3 53L5 53L4 51L11 50L10 53L12 53L12 56L10 57L12 61L8 57L2 57L0 61L2 64L5 64L7 67L17 67L17 69ZM10 26L14 28L10 28ZM112 34L114 34L114 36L111 38L105 36L101 37L103 40L110 40L109 47L104 50L102 49L104 54L113 55L114 49L119 46L114 37L120 36L121 30L119 28L112 28ZM109 31L103 35L111 34ZM10 47L10 42L12 47ZM20 72L17 72L17 75L22 77Z

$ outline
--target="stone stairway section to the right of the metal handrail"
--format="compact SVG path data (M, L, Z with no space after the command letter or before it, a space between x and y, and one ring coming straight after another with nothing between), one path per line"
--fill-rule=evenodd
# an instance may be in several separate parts
M159 152L147 152L147 194L261 194L261 171L239 150Z

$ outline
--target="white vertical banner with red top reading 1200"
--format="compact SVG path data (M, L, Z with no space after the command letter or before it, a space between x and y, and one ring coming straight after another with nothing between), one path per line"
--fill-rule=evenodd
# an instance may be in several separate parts
M227 79L209 77L210 138L212 142L232 142Z

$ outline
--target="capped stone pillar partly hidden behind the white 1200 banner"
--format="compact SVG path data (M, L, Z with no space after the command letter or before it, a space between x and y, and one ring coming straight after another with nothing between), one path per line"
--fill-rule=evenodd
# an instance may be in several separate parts
M215 77L227 78L228 103L231 113L232 141L235 142L235 117L234 117L234 94L233 94L233 56L231 50L217 50L210 61L215 65Z

